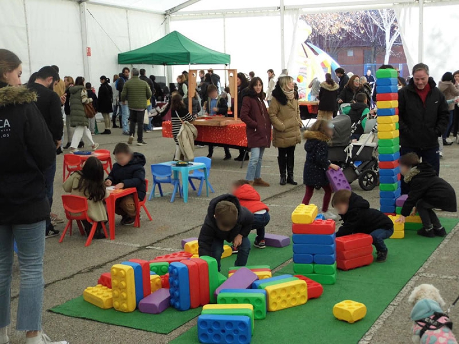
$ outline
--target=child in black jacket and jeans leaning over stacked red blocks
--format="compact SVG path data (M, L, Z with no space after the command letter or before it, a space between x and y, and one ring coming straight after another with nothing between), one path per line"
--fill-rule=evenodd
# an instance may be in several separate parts
M338 214L344 221L336 236L354 233L370 234L376 248L376 261L386 261L387 247L384 240L394 233L392 220L381 211L370 208L367 200L349 190L337 191L331 200L331 205L338 210Z

